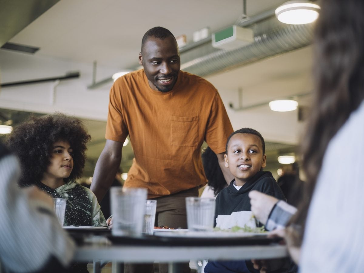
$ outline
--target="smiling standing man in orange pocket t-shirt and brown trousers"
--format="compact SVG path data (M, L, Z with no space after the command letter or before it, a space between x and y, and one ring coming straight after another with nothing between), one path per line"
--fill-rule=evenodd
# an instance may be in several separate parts
M218 155L230 181L223 153L233 129L216 88L180 70L177 42L168 29L145 33L139 63L143 69L111 88L107 141L91 189L100 202L129 135L135 158L124 187L148 189L148 198L157 200L156 225L187 228L185 197L198 196L198 187L206 184L201 145L206 141Z

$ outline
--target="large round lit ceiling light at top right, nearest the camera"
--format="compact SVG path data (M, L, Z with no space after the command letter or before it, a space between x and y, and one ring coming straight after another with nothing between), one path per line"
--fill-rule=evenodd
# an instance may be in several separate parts
M276 9L276 17L285 24L301 25L315 21L320 6L311 1L288 1Z

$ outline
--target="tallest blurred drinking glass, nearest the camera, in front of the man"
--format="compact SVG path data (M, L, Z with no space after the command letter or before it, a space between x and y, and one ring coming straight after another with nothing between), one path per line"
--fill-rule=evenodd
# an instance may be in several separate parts
M112 235L141 236L147 192L142 188L111 187Z

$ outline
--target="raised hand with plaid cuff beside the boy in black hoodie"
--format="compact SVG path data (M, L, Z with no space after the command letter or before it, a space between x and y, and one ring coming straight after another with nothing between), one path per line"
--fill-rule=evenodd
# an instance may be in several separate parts
M274 205L278 202L278 199L256 190L250 191L249 197L253 215L262 224L266 225L270 211L273 209Z

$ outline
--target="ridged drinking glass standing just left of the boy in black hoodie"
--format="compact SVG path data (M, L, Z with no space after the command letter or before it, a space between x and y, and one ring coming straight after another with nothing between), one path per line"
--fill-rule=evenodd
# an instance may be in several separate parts
M186 197L187 226L190 231L211 231L214 228L215 199Z

